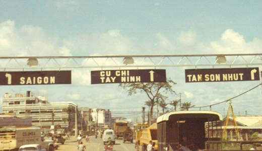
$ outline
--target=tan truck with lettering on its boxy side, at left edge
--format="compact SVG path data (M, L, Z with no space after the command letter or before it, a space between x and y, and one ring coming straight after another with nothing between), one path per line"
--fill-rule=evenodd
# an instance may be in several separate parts
M3 127L0 128L0 150L18 150L26 144L40 144L41 148L53 151L57 145L53 140L44 140L41 137L40 127Z

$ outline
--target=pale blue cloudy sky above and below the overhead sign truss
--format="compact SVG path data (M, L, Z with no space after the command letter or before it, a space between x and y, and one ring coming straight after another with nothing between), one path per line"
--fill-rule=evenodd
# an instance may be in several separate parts
M261 1L0 0L0 4L1 56L262 52ZM261 66L256 67L261 71ZM185 83L186 68L161 67L167 79L177 83L176 95L167 94L166 102L179 99L181 93L182 102L211 105L260 83ZM128 96L117 84L91 85L90 71L99 68L70 70L71 85L0 86L0 96L32 91L49 102L75 102L80 107L110 109L113 116L141 119L139 112L148 101L144 93ZM261 93L260 86L233 99L235 114L262 115ZM223 103L212 110L225 115L227 107ZM134 113L124 115L124 111Z

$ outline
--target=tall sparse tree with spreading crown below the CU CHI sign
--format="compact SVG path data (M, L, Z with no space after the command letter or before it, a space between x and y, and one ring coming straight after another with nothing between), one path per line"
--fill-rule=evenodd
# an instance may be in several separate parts
M128 92L129 96L132 96L138 92L145 92L150 102L150 120L153 117L153 108L157 102L166 99L167 97L162 93L175 93L172 89L172 85L176 83L172 80L167 80L166 83L121 83L119 87L123 88ZM146 104L147 105L147 104Z

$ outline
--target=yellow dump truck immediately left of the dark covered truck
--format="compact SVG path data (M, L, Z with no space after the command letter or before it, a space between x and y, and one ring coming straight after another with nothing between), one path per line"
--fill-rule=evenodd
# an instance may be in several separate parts
M143 127L146 127L146 125ZM139 129L138 126L136 130L135 144L137 151L145 151L150 140L152 140L153 149L157 150L157 123L143 129Z

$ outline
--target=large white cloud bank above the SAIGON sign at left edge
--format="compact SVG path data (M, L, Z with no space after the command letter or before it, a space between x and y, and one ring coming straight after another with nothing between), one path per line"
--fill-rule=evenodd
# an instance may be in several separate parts
M15 22L10 20L0 23L2 56L70 55L69 48L57 45L58 40L55 36L46 35L40 27L24 25L16 28Z

